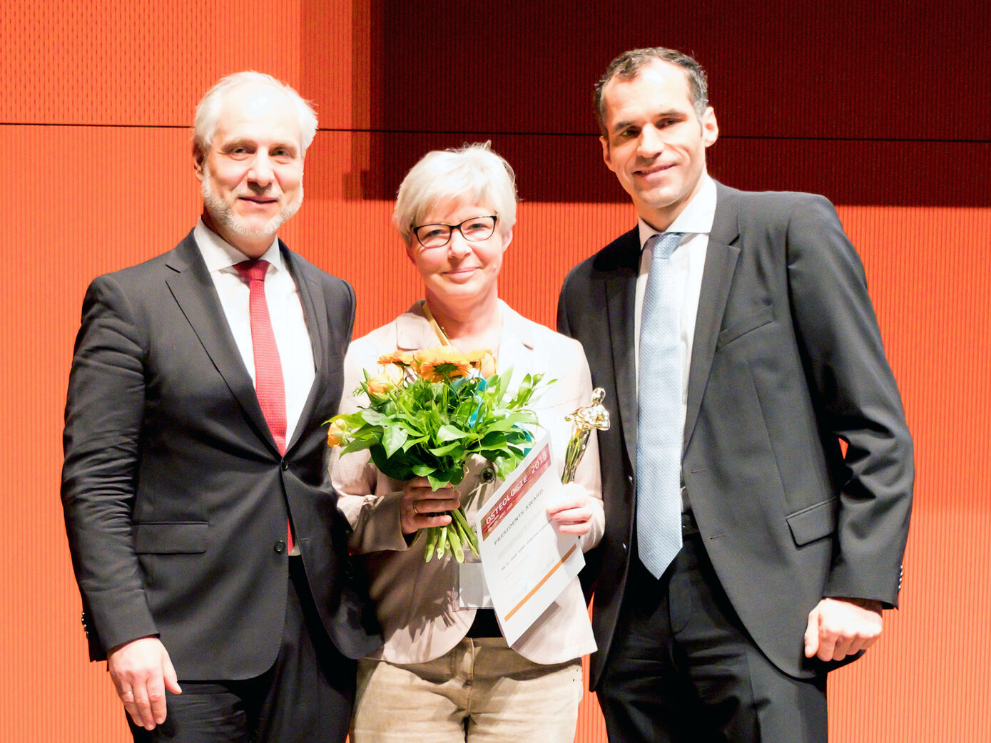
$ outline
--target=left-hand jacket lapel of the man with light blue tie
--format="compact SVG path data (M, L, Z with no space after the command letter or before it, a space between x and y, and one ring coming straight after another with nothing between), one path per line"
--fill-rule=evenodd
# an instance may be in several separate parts
M615 406L622 423L626 454L636 468L636 355L634 344L636 277L640 267L639 232L633 228L614 243L614 250L602 256L606 271L606 318L612 353L612 375L616 385ZM606 265L608 264L608 265ZM597 265L597 268L600 267ZM608 405L606 401L606 405Z

